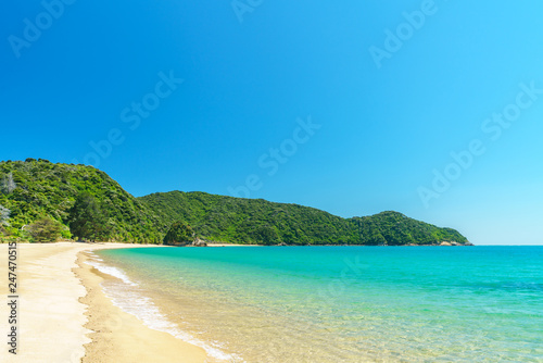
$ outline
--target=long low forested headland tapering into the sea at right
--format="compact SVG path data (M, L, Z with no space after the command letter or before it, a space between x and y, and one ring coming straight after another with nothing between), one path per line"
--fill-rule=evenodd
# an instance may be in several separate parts
M138 198L153 211L161 229L187 222L216 241L263 245L469 245L451 228L439 228L397 212L342 218L296 204L205 192L157 192Z

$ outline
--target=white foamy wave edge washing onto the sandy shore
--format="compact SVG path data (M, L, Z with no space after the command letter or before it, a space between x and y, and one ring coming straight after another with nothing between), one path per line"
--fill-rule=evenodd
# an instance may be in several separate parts
M177 339L200 347L214 359L228 362L233 360L236 362L243 362L239 356L227 354L222 350L194 338L190 334L180 330L177 325L169 322L166 316L164 316L160 312L159 308L152 302L150 298L143 296L141 290L135 289L139 287L139 285L130 280L122 270L104 265L93 260L88 260L87 264L97 268L101 273L119 278L128 287L131 287L130 289L123 288L122 286L116 286L117 288L109 288L103 286L103 289L105 295L111 299L114 305L136 316L146 326L154 330L167 333Z

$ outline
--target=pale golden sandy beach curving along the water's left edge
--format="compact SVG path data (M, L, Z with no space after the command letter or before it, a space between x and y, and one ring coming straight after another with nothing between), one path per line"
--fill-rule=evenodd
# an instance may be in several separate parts
M108 299L103 277L83 251L144 248L124 243L17 246L17 354L3 343L1 362L204 362L205 351L144 326ZM9 334L8 245L0 245L2 335ZM5 339L4 339L5 340Z

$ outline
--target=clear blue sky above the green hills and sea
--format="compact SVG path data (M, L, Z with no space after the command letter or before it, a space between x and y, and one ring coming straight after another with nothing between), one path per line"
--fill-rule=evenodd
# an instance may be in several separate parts
M0 4L1 160L543 243L541 1L65 1Z

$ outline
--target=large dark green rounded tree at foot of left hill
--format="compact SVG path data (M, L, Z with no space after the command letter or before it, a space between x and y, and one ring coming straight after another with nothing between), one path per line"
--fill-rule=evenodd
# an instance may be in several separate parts
M70 209L67 224L72 235L79 239L104 240L111 235L106 226L105 214L89 192L81 192L77 196L74 205Z

